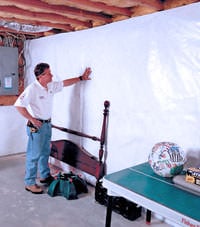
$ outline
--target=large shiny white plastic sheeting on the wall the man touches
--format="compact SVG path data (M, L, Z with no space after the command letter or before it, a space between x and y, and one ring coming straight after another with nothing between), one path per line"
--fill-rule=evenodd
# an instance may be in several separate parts
M103 102L109 100L108 172L147 161L157 142L186 152L200 150L200 4L94 29L27 41L26 82L48 62L54 79L92 80L55 96L53 123L100 136ZM99 144L53 130L97 155Z

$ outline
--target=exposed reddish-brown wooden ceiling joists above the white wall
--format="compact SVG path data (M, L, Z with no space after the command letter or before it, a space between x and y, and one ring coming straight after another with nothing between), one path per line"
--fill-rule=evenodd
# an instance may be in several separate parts
M50 27L49 31L13 30L0 24L0 34L28 39L88 29L131 17L171 9L197 0L0 0L0 21Z

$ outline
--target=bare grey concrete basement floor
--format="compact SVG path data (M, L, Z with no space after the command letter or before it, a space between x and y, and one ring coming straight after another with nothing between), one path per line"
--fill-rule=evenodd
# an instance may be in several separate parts
M94 187L77 200L34 195L24 189L25 155L0 157L0 226L2 227L103 227L106 207L94 199ZM46 188L47 189L47 188ZM145 218L129 221L112 213L112 227L145 227ZM167 227L153 218L151 227Z

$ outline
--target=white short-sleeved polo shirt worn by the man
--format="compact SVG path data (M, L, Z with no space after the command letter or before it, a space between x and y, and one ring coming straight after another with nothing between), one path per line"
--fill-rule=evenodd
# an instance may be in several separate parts
M30 84L19 96L14 106L25 107L38 119L51 118L53 95L63 88L63 82L52 81L44 88L37 80Z

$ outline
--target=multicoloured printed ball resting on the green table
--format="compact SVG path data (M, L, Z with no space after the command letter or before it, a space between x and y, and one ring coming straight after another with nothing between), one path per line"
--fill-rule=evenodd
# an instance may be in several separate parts
M185 153L175 143L160 142L153 146L148 162L156 174L173 177L183 170Z

